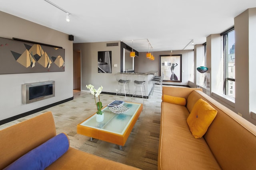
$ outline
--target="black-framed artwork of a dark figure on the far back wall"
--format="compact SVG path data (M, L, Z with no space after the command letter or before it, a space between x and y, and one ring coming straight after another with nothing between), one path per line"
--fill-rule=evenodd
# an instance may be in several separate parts
M181 82L182 55L160 55L160 73L163 81Z

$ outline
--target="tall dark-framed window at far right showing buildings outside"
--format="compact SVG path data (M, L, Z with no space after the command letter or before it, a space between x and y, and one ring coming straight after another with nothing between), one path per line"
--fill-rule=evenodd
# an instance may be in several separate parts
M235 30L228 29L223 36L224 52L224 89L225 95L235 97Z

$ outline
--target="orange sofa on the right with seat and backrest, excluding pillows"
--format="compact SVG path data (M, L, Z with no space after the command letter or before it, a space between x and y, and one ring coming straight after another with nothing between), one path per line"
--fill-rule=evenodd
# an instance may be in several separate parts
M198 88L163 87L162 94L186 99L186 105L161 104L158 170L254 170L256 126ZM217 110L205 135L196 139L187 118L199 99Z

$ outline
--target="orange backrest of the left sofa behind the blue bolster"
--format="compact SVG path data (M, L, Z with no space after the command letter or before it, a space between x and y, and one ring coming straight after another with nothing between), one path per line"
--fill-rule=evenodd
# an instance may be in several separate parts
M0 169L56 135L51 112L0 131Z

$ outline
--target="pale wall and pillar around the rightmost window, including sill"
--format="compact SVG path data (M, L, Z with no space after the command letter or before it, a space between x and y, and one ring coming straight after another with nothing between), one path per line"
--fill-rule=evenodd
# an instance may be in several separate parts
M235 100L223 94L223 54L220 34L206 38L208 73L211 75L211 97L244 119L256 125L256 8L250 8L234 18L236 50L236 97ZM253 113L254 112L254 113Z

